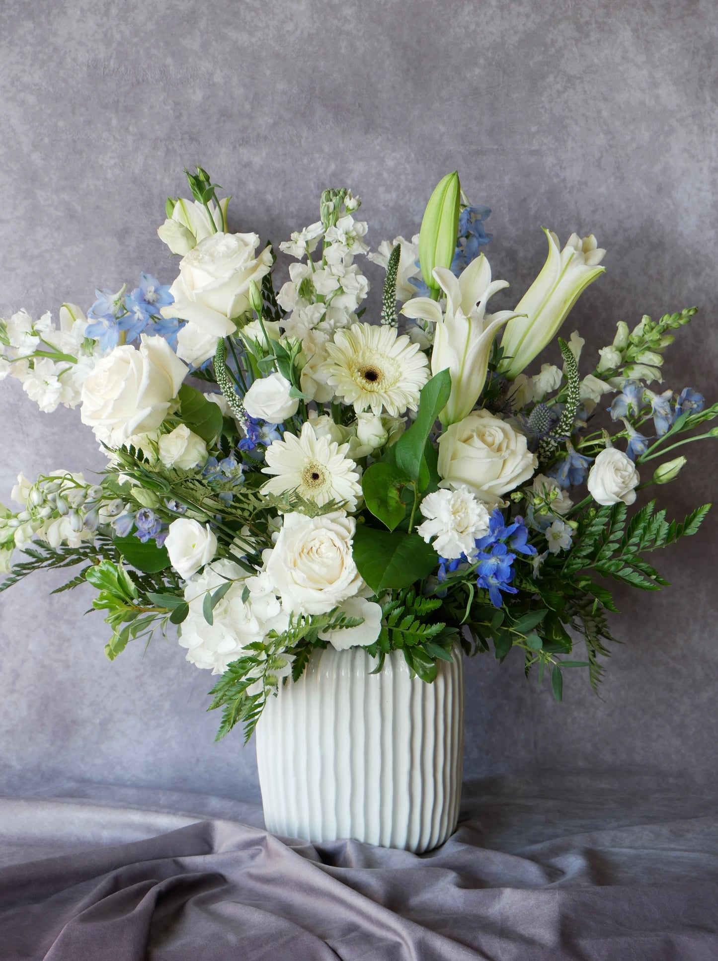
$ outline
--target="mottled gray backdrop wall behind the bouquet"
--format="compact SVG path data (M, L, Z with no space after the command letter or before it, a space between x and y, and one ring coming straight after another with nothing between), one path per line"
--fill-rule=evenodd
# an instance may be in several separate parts
M0 315L87 308L140 270L170 282L155 228L184 165L234 194L236 230L275 241L316 218L322 187L351 185L375 245L418 230L458 167L493 209L502 306L543 262L541 225L592 231L607 275L569 332L596 348L617 320L697 304L666 381L714 394L717 27L714 0L2 0ZM0 414L0 499L20 470L100 465L77 412L38 413L5 382ZM715 496L714 456L691 453L671 512ZM716 530L661 558L672 588L619 595L602 700L577 674L557 706L519 659L472 661L466 773L711 774ZM212 744L210 677L173 641L111 664L89 593L51 598L57 582L0 600L0 786L256 796L254 748Z

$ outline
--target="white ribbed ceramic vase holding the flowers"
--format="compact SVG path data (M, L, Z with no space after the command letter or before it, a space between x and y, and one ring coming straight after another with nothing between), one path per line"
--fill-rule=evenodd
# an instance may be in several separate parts
M267 829L416 852L443 844L461 794L461 657L457 646L427 684L409 676L400 652L375 675L363 648L315 652L257 726Z

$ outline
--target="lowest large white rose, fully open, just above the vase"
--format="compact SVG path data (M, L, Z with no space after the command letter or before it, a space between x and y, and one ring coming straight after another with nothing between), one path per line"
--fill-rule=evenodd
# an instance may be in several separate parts
M277 543L264 557L286 610L326 614L357 594L362 581L352 557L355 530L343 510L321 517L285 514Z

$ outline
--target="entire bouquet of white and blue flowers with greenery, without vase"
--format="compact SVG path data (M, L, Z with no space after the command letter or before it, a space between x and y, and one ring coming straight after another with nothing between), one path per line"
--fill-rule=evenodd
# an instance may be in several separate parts
M96 483L20 475L20 509L0 505L0 590L79 568L59 590L97 589L111 659L177 626L186 659L217 676L218 736L243 723L249 737L328 644L364 647L377 671L401 651L427 683L457 643L502 661L517 648L558 701L564 670L586 667L596 687L608 582L664 585L645 555L695 533L709 506L629 515L639 489L677 477L677 448L718 435L693 432L718 405L660 389L696 309L621 321L580 373L582 337L557 334L604 273L593 235L561 248L545 231L540 274L491 313L508 283L483 253L490 211L456 173L420 233L376 253L359 199L325 190L320 219L279 245L277 289L271 244L230 233L204 169L187 180L192 199L170 198L158 230L181 257L171 284L143 273L129 293L98 290L87 316L65 304L57 325L0 321L0 379L40 410L79 406L107 455ZM385 270L375 323L362 258ZM557 363L530 374L552 343Z

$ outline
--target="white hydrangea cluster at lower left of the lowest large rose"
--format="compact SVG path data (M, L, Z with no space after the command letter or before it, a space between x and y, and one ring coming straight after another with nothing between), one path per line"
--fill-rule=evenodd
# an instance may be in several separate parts
M247 578L234 561L221 558L187 581L189 613L180 628L179 641L190 663L212 674L223 674L248 644L260 642L271 629L285 630L288 615L275 595L264 589L260 578ZM228 581L232 586L214 605L212 623L208 624L203 610L205 598ZM243 601L245 587L249 596Z

